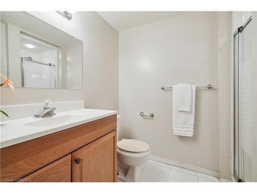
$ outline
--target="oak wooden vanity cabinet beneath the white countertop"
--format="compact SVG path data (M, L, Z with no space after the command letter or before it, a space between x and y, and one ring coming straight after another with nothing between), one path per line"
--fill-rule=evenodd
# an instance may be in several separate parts
M0 179L115 182L116 126L112 115L2 148Z

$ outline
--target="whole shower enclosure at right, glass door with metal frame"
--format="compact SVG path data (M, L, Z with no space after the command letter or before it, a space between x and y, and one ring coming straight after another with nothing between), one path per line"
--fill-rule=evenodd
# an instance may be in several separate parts
M256 179L255 83L252 69L251 17L234 32L233 176L238 182Z

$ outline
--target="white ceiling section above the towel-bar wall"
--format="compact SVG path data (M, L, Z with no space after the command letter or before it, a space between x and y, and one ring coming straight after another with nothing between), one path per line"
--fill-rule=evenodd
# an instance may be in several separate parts
M186 14L186 11L98 11L117 31L123 31Z

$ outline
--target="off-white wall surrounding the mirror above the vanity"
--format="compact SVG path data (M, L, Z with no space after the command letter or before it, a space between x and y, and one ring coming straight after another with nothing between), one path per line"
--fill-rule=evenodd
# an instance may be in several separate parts
M71 21L57 12L29 12L83 41L83 91L1 87L1 106L84 100L86 108L118 110L118 32L97 12L76 12ZM19 59L20 60L20 59Z

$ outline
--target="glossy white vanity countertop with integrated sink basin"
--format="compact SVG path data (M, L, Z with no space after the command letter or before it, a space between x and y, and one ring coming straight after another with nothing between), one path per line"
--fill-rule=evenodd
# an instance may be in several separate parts
M62 131L71 127L85 124L100 118L117 114L117 111L78 109L59 112L57 115L44 118L20 118L1 122L0 147L28 141L33 138Z

